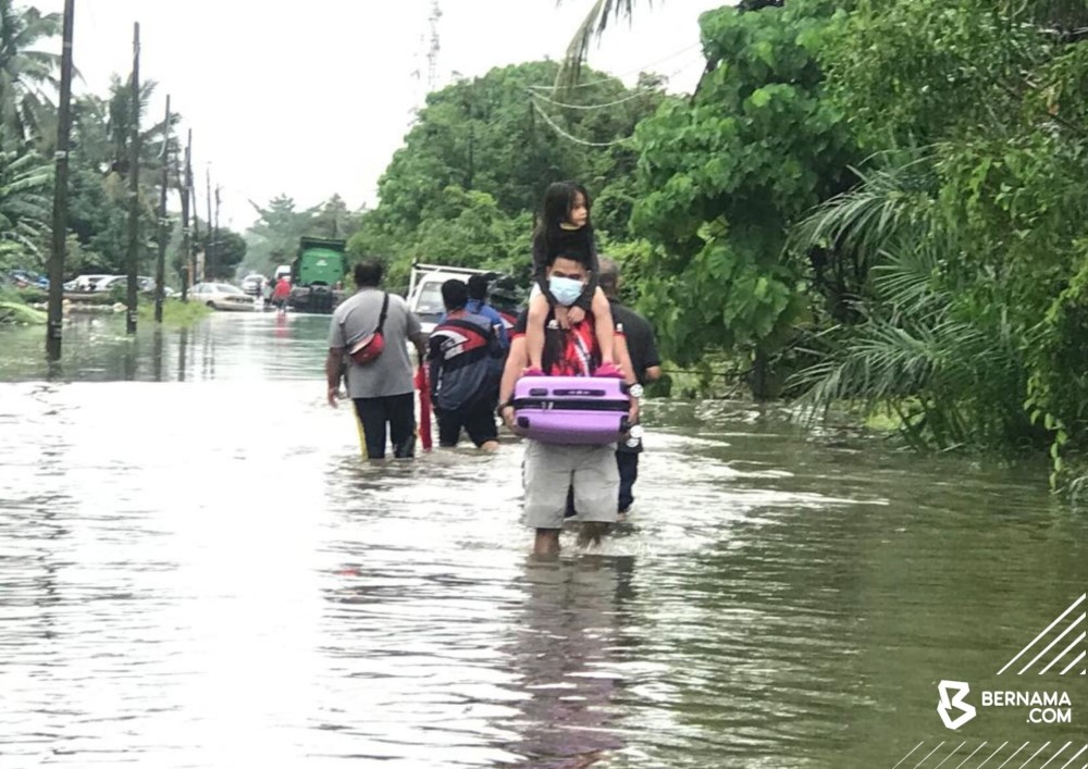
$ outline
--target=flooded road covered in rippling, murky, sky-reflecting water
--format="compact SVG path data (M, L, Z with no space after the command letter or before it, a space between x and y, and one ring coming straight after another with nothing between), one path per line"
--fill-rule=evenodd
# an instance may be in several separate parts
M360 461L326 323L0 331L0 768L1088 764L1083 621L997 674L1088 587L1044 468L651 402L630 521L537 563L517 442Z

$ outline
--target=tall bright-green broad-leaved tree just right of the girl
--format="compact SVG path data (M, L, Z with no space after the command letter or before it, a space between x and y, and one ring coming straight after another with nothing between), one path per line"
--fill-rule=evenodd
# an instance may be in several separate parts
M680 362L738 350L763 376L807 312L808 264L786 249L787 233L850 186L858 159L821 92L816 53L832 10L798 0L704 14L696 96L639 125L632 227L655 246L636 265L640 303Z

